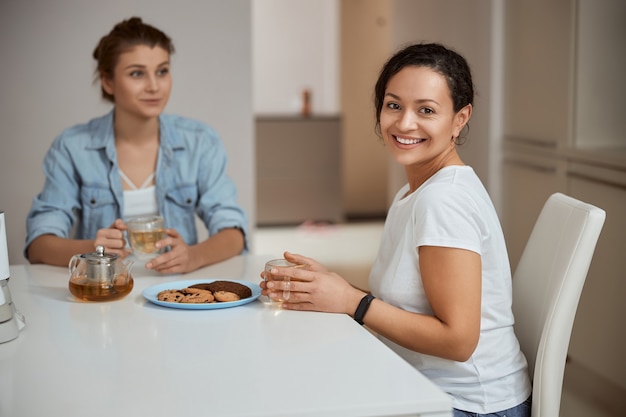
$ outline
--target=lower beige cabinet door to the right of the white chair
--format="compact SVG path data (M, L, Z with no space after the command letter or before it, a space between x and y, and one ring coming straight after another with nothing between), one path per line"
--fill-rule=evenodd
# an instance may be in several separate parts
M626 388L626 182L572 173L567 189L607 212L578 306L569 356Z

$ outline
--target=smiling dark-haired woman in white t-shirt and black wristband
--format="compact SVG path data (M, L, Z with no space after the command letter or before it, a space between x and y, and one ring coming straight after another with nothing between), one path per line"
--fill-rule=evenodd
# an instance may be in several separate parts
M346 313L453 399L455 416L529 417L527 363L513 331L511 271L491 199L457 146L473 111L465 59L439 44L395 54L375 87L376 127L403 165L371 294L311 258L298 281L261 283L284 308ZM263 275L263 273L262 273Z

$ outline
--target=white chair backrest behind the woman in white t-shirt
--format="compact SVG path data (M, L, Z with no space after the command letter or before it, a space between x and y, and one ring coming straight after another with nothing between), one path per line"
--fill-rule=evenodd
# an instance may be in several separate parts
M606 213L548 198L513 275L515 333L533 381L533 417L558 417L572 326Z

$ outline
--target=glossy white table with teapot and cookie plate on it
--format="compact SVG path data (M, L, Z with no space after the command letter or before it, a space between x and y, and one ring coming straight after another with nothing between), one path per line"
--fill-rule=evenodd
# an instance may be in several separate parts
M173 280L258 282L266 259L136 268L133 291L111 302L75 300L66 268L11 266L26 327L0 344L0 416L451 416L445 393L346 315L260 301L179 310L141 295Z

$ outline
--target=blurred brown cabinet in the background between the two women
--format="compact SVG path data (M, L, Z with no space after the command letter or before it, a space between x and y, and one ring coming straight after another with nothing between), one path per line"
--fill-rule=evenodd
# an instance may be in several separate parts
M257 225L340 222L341 120L257 117Z

